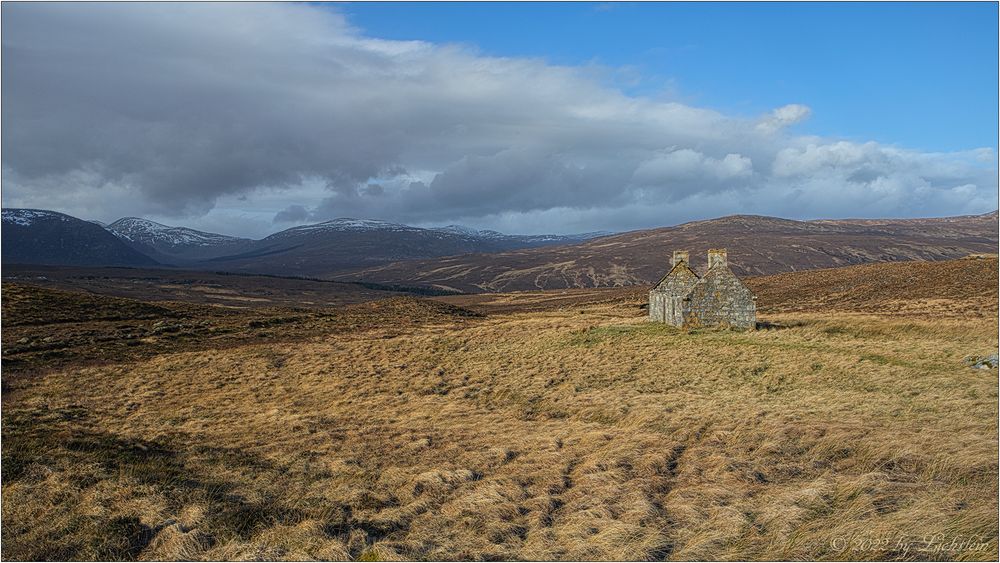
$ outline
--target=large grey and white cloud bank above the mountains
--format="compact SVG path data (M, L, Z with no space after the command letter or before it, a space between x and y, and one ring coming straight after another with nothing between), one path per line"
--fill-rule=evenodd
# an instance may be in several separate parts
M4 205L234 234L354 216L542 232L997 207L992 149L796 135L593 68L366 36L290 4L6 4ZM919 119L920 116L914 116Z

